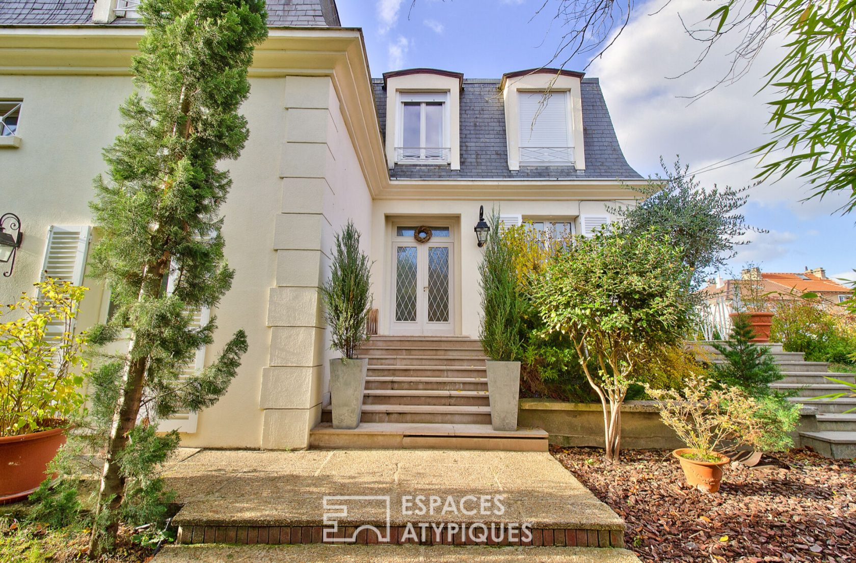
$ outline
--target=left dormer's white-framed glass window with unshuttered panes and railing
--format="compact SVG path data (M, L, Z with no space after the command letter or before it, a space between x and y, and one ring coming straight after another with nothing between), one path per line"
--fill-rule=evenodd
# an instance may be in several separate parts
M449 94L401 92L395 162L449 163Z

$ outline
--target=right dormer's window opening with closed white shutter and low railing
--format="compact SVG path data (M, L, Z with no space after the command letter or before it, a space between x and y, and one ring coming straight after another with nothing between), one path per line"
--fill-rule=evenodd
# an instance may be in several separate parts
M517 92L517 96L520 164L573 164L568 92Z

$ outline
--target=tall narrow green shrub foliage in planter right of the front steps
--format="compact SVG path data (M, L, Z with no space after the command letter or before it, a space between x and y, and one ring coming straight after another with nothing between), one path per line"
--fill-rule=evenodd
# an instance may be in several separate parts
M514 254L502 240L499 215L490 214L490 232L479 264L482 318L479 338L490 359L520 360L524 299L514 269Z

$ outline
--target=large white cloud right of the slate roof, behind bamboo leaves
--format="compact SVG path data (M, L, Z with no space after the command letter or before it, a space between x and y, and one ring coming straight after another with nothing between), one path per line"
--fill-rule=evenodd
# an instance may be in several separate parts
M667 79L692 68L703 46L687 36L678 14L692 25L703 21L710 7L698 0L673 0L660 10L662 6L660 0L638 5L636 20L588 72L602 81L627 161L647 175L657 171L660 155L671 162L680 153L683 163L698 170L769 140L764 134L770 114L766 102L775 98L775 93L758 93L758 89L764 84L764 73L777 62L776 49L762 51L742 79L718 86L689 104L687 98L680 97L702 92L721 78L728 70L734 45L720 44L699 68ZM657 10L659 13L649 15ZM746 157L750 155L735 160ZM746 186L758 173L757 161L751 157L700 174L698 180ZM801 203L809 194L804 181L792 176L754 187L751 199L761 205L787 204L800 219L828 215L846 201L836 194Z

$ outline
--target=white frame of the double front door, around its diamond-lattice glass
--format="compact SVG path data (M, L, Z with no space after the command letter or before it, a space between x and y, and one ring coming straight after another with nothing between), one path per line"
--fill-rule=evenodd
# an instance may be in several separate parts
M399 227L448 227L449 236L432 236L427 242L417 242L413 236L398 236ZM452 221L416 219L413 221L395 221L392 223L392 244L389 247L391 281L389 283L389 334L390 335L455 335L455 226ZM398 281L397 249L399 247L416 249L416 318L413 321L397 321L396 290ZM430 248L449 248L449 316L446 322L428 320L428 252Z

